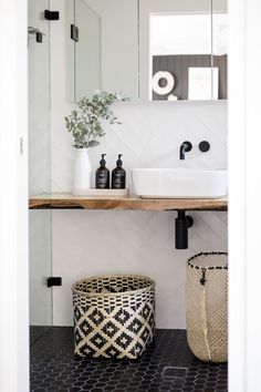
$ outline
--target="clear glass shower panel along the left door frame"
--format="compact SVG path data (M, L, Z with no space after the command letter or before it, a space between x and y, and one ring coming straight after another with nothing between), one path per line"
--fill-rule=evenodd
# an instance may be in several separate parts
M50 41L46 0L29 0L29 193L51 190ZM52 324L51 212L30 212L30 324L35 333ZM38 326L39 328L35 328ZM36 331L36 332L35 332ZM32 336L31 336L32 337Z

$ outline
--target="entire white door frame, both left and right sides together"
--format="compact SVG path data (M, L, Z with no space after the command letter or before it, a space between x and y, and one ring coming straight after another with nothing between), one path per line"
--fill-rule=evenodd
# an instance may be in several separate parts
M229 0L229 392L261 391L260 16ZM0 0L0 390L27 392L27 0Z

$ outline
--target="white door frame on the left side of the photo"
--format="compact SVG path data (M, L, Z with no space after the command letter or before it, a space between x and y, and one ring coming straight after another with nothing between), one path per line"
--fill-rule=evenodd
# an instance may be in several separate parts
M0 0L0 391L29 391L27 0Z

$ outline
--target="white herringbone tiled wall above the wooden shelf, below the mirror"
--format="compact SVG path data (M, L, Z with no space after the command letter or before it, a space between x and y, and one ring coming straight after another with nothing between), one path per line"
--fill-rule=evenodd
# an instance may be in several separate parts
M64 126L71 107L61 106L52 113L52 190L71 192L75 149ZM95 171L101 153L106 153L107 167L114 168L117 154L123 154L129 179L133 167L227 167L227 104L220 102L143 102L114 105L122 125L106 127L106 136L90 155ZM194 148L179 161L179 146L189 140ZM198 144L207 140L211 149L200 153ZM93 174L94 174L93 171ZM93 175L94 179L94 175Z

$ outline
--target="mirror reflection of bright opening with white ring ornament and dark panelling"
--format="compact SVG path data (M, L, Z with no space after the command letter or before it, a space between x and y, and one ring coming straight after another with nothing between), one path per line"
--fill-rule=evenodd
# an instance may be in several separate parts
M208 13L150 16L153 100L227 97L227 16L211 21Z

